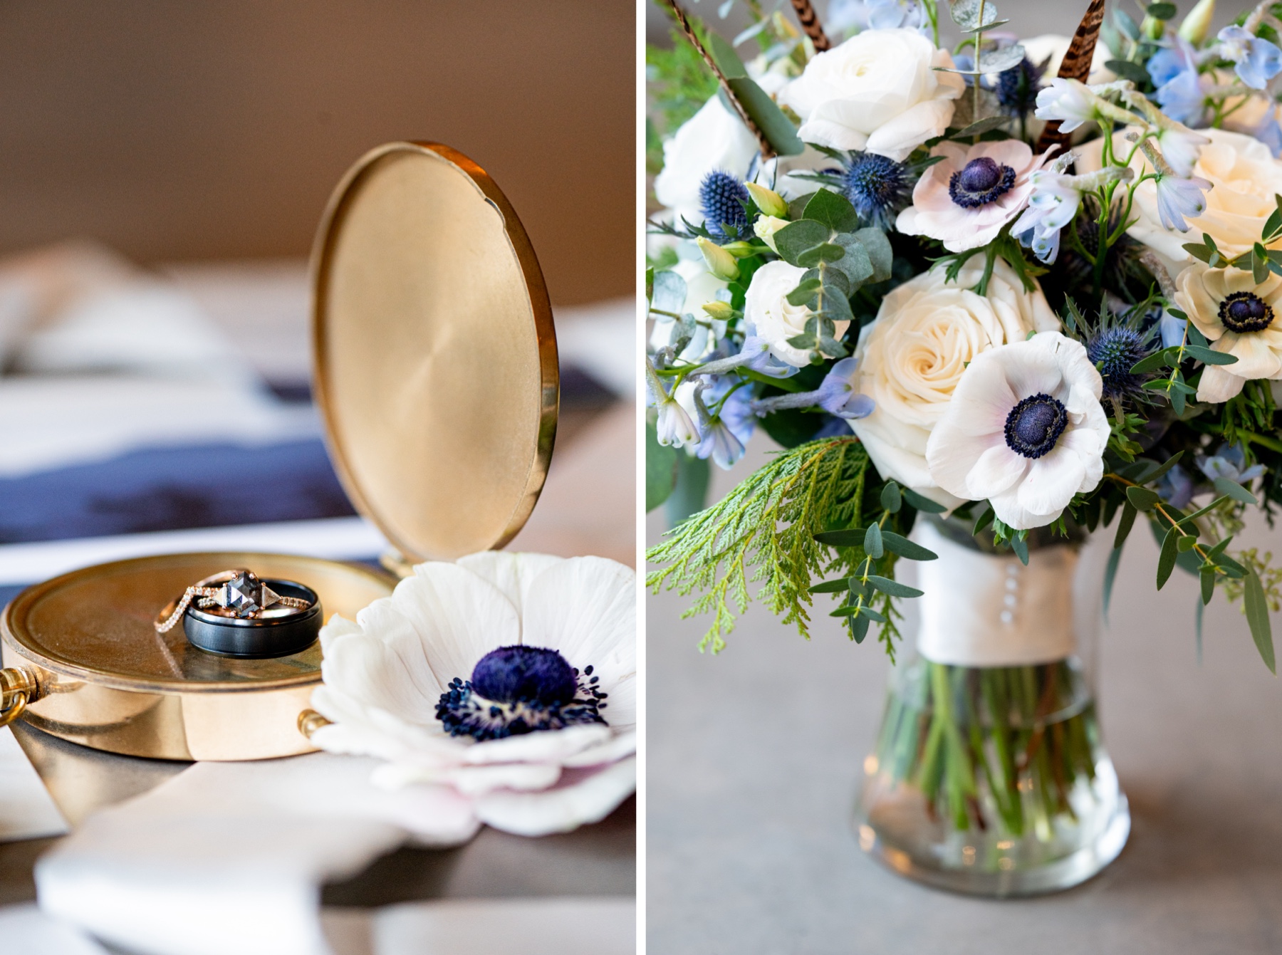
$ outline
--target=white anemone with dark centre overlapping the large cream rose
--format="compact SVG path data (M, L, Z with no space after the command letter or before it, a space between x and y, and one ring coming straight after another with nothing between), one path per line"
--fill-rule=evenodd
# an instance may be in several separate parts
M1086 349L1059 332L979 353L931 432L931 477L958 497L987 499L1017 531L1051 523L1104 477L1103 386Z

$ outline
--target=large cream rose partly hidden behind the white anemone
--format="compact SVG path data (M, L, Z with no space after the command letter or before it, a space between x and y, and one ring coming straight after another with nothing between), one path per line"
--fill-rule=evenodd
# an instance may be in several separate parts
M926 442L947 410L962 373L979 353L1023 341L1028 332L1059 331L1041 288L1026 292L1014 269L997 259L987 296L970 291L982 265L955 282L938 267L895 288L877 318L859 332L859 391L876 403L850 427L883 478L949 508L962 504L931 478Z

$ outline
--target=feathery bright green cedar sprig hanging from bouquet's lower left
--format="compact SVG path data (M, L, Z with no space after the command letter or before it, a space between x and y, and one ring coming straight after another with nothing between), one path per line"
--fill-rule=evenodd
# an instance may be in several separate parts
M701 650L717 652L726 646L736 614L750 600L749 583L755 582L762 583L758 599L809 637L812 582L822 576L854 576L864 556L858 547L819 544L814 535L863 523L873 490L869 473L876 481L868 453L854 436L783 451L650 549L650 561L665 567L649 573L646 585L655 594L700 591L683 617L712 613ZM888 650L892 636L882 636Z

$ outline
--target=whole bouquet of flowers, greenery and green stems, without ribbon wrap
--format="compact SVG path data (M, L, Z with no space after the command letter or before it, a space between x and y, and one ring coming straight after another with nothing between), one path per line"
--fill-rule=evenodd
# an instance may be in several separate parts
M1020 42L986 0L833 4L842 42L805 3L803 31L747 5L728 42L669 0L679 46L651 60L647 497L758 428L785 450L668 532L651 588L697 591L713 650L753 583L803 635L831 594L894 658L919 541L1028 564L1109 528L1106 602L1147 524L1156 586L1200 581L1199 640L1220 588L1274 669L1282 573L1233 538L1282 502L1282 5L1213 32L1214 0L1106 23L1097 0L1072 42ZM1090 714L1033 726L1069 664L928 667L936 715L888 714L882 763L962 829L1072 814ZM994 736L965 738L959 693Z

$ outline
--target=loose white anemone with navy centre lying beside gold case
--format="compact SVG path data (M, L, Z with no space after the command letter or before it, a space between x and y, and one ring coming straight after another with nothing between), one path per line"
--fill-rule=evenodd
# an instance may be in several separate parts
M312 705L331 752L387 788L445 786L523 836L608 815L636 788L636 574L605 558L485 551L414 568L320 631Z

